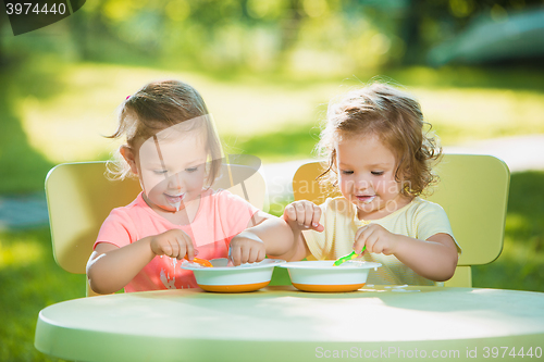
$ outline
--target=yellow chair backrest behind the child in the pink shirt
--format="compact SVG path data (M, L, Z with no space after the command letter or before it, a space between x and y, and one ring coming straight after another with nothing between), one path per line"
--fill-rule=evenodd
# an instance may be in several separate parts
M245 179L243 184L232 186L234 172L237 179ZM141 191L137 179L110 180L104 173L106 162L63 163L46 177L54 260L70 273L85 274L102 222L112 209L128 204ZM259 172L249 166L223 165L221 175L214 189L228 189L265 210L267 186ZM92 295L89 288L87 294Z

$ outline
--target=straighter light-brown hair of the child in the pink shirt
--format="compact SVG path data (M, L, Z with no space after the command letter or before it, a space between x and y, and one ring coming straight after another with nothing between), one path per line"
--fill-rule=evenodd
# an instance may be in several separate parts
M121 103L118 109L118 129L106 137L124 137L126 146L134 148L138 139L146 140L162 129L207 115L209 116L208 108L202 97L191 86L173 79L152 82ZM196 128L205 130L211 159L206 183L211 185L221 168L221 143L209 118L202 123L188 123L188 125L187 132ZM111 179L134 176L119 151L114 160L108 162L107 172Z

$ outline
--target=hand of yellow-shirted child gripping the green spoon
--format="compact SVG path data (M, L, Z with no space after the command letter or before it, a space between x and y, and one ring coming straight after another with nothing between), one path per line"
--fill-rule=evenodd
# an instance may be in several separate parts
M396 234L387 232L381 225L369 224L359 228L355 234L354 250L360 253L362 247L367 246L369 252L391 255L395 253L397 242Z

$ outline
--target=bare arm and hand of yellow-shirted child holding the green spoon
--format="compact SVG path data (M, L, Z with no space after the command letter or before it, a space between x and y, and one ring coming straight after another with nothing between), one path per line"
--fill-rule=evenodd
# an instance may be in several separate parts
M448 234L435 234L426 240L393 234L383 226L370 224L357 230L354 250L367 246L369 252L394 254L419 275L435 282L449 279L457 266L457 248Z

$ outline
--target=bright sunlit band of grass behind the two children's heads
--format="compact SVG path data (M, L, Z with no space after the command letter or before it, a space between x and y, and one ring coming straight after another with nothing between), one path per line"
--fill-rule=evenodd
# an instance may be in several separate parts
M410 67L383 74L419 98L444 145L544 133L542 71ZM41 189L47 170L60 162L108 159L119 142L102 135L115 128L115 108L152 79L175 77L194 85L227 151L276 162L308 158L329 100L374 75L310 79L233 73L215 78L175 68L28 59L0 70L5 130L0 166L7 171L0 194Z

